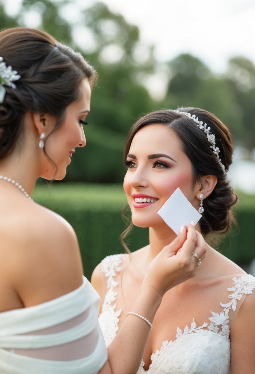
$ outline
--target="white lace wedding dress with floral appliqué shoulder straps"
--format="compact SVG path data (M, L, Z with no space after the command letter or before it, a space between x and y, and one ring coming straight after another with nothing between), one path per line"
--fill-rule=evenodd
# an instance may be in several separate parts
M118 300L122 300L121 270L128 263L127 254L108 256L102 261L105 298L99 324L107 346L119 329L120 318L125 318ZM144 369L142 361L137 374L230 374L231 323L246 295L252 294L254 289L255 278L251 275L209 279L205 292L199 296L199 305L192 306L187 300L186 309L182 308L187 310L186 324L178 326L176 322L175 336L172 340L166 336L168 340L151 355L148 370ZM172 321L172 317L169 315L169 320Z

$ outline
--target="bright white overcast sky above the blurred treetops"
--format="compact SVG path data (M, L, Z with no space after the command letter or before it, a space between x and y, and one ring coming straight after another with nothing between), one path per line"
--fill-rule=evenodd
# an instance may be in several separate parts
M11 12L21 0L0 0ZM43 2L43 0L40 0ZM58 0L53 0L58 1ZM70 19L79 18L79 7L93 0L73 0ZM179 53L191 53L215 73L225 70L227 60L243 55L255 64L254 0L102 0L111 11L138 25L142 42L156 46L161 61ZM36 0L35 0L36 3ZM35 18L28 16L33 23ZM31 27L36 27L36 23Z

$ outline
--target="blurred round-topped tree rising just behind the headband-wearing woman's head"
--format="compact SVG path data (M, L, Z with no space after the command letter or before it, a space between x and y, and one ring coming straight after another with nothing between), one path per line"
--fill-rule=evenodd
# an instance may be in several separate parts
M215 77L202 61L189 54L179 55L168 65L172 79L164 106L209 110L228 126L235 139L239 134L240 121L234 111L236 99L228 80L224 76Z

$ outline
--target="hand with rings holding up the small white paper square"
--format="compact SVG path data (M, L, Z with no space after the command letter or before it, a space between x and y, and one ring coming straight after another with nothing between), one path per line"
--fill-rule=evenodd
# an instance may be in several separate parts
M192 278L197 270L197 256L203 260L206 243L192 224L170 243L151 262L145 274L142 288L152 287L161 296L170 288Z

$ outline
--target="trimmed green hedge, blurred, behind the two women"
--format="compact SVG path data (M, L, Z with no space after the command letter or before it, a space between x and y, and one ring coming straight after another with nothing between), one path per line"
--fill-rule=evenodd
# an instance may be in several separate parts
M82 254L84 272L90 279L94 267L109 254L124 252L119 237L125 229L121 217L126 203L121 185L38 184L34 200L64 217L76 231ZM218 245L223 253L240 264L255 258L255 196L239 196L236 218L238 227ZM131 251L148 243L148 229L134 227L127 239ZM215 246L214 246L215 248Z

